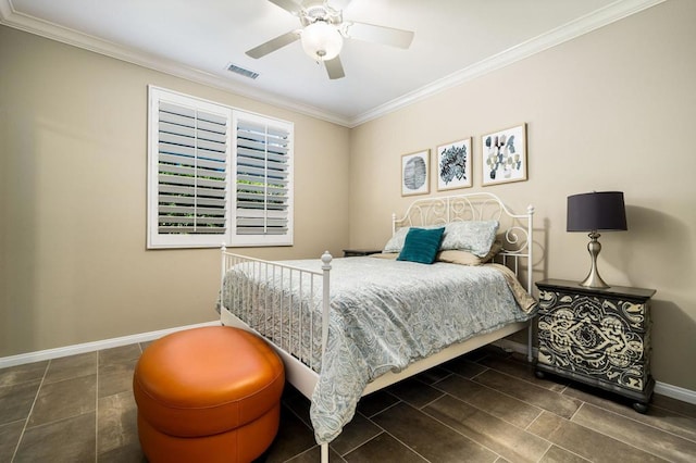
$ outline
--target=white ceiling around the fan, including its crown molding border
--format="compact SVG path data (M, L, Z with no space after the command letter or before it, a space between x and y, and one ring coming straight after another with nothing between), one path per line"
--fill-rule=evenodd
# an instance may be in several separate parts
M299 42L245 54L299 27L268 0L0 0L0 22L351 127L661 1L352 0L344 20L415 36L408 50L346 40L337 80Z

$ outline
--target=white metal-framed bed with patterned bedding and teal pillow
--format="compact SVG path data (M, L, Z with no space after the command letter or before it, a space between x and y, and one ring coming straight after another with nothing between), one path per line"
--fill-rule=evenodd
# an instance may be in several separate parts
M447 196L393 214L381 254L273 262L223 246L221 321L275 347L326 462L362 396L522 329L532 360L533 214Z

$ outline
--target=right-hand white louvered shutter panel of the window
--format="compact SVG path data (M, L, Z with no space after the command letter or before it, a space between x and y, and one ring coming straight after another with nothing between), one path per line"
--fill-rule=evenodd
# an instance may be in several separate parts
M293 126L235 112L235 242L293 243Z

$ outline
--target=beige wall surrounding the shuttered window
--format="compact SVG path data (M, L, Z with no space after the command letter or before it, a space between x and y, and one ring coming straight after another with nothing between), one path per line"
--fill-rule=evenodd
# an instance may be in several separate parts
M347 245L347 128L3 26L0 63L0 356L215 320L219 250L145 249L148 84L295 123L295 247L252 253Z

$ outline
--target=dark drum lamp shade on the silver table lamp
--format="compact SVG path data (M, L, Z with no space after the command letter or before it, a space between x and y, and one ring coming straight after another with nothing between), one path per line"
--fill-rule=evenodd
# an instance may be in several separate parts
M621 191L595 191L568 197L568 232L626 230Z

